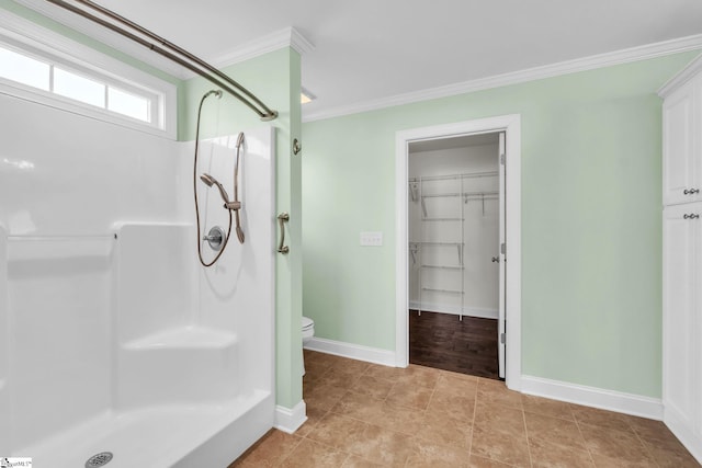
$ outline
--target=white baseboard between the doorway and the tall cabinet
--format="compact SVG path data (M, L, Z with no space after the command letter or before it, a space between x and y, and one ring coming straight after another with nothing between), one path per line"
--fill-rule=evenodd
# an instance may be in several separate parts
M600 408L619 413L633 414L657 421L663 420L663 401L659 398L642 397L614 390L522 376L522 392L552 400L567 401L586 407Z

